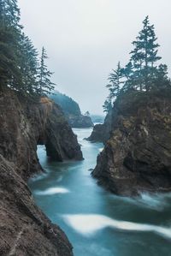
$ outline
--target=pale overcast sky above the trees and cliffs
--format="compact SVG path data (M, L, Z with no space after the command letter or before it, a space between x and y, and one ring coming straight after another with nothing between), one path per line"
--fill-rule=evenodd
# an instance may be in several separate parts
M56 89L82 112L103 114L111 69L124 66L146 15L171 73L170 0L19 0L21 23L38 51L45 47Z

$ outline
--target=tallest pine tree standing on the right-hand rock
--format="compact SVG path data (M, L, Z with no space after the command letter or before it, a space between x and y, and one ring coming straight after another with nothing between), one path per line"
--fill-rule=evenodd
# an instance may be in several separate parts
M149 16L143 21L143 29L139 32L137 40L133 41L134 50L131 51L135 78L139 89L149 91L150 79L156 71L155 63L161 59L157 56L159 45L156 43L154 25L150 25Z

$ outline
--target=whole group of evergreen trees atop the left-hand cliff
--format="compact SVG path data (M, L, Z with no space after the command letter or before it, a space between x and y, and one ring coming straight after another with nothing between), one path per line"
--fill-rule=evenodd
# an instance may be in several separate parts
M41 96L54 89L51 72L23 32L17 0L0 0L0 89L5 87L26 96Z

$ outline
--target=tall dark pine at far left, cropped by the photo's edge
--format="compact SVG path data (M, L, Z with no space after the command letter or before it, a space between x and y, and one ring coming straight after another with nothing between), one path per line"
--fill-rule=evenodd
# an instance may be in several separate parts
M0 86L21 81L17 51L21 36L20 11L15 0L0 0Z

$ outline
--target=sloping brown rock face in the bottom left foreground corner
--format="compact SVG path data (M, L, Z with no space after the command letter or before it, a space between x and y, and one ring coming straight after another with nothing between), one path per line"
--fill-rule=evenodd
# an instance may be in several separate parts
M67 236L38 209L14 164L1 155L0 197L0 255L73 255Z

